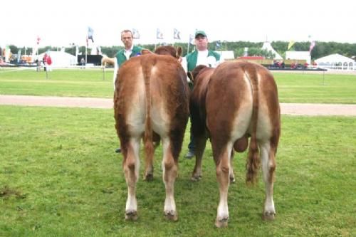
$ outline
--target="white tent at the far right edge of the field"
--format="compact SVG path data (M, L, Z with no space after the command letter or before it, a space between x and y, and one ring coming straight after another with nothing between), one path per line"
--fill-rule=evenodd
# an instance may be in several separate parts
M352 70L356 67L355 60L342 56L338 53L318 58L315 60L315 63L317 63L320 67L330 69Z

